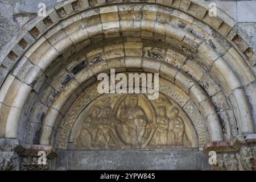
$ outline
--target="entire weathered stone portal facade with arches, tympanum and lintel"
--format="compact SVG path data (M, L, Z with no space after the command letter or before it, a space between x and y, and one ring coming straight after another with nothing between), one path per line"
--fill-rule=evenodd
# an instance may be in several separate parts
M255 1L40 2L0 3L1 170L256 168ZM99 93L110 69L159 97Z

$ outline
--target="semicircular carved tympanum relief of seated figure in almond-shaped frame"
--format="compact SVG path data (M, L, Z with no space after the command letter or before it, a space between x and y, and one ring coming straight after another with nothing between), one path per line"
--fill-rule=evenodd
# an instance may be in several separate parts
M162 94L158 100L105 94L82 111L69 142L87 149L191 147L191 126L182 109Z

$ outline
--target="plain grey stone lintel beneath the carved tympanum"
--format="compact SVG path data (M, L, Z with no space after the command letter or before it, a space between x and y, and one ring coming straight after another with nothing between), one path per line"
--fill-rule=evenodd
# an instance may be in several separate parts
M209 170L203 151L67 151L58 152L57 170L199 169ZM73 156L76 156L75 158ZM57 158L58 158L57 157ZM67 159L64 161L64 159ZM93 159L93 160L92 160ZM86 165L90 163L90 166ZM99 166L99 163L102 165ZM135 165L134 165L135 164Z

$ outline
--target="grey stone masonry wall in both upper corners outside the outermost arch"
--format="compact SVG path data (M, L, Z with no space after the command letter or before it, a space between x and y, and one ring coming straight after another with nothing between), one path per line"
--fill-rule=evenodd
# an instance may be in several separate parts
M3 0L0 1L0 51L19 32L20 28L37 16L39 3L53 7L65 0ZM238 22L238 32L256 51L256 1L207 0Z

